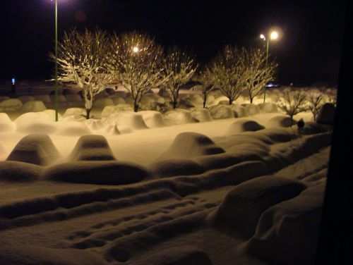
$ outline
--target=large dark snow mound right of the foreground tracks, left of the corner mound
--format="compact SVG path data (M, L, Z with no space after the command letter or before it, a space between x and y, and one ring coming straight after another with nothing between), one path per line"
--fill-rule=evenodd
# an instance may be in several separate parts
M250 238L263 211L299 195L306 185L287 178L266 175L234 187L210 214L214 224L225 224ZM244 218L246 216L246 218Z

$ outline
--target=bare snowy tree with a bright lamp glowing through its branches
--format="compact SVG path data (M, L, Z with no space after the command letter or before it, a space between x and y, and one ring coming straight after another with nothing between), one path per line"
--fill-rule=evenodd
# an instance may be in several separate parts
M112 73L131 93L136 112L143 95L165 82L162 75L163 49L154 39L138 32L114 34L111 48Z

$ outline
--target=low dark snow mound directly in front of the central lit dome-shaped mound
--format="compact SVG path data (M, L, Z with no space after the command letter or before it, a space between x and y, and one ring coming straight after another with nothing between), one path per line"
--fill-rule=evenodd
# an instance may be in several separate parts
M197 175L205 169L195 161L188 159L167 159L157 161L149 166L157 177L172 177L175 175Z

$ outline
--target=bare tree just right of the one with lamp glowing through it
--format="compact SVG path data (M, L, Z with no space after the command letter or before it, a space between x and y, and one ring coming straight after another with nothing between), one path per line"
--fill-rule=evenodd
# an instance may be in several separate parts
M173 109L175 109L178 104L181 85L191 80L198 65L195 63L194 58L175 46L167 52L163 65L164 76L167 80L164 86L167 87L169 97L172 100Z

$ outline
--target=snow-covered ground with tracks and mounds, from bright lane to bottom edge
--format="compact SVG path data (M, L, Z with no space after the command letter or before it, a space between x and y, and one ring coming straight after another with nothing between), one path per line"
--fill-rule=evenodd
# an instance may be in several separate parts
M0 162L0 264L311 264L330 132L271 128L279 115L104 134L107 144L49 134L59 154L43 136L23 140L37 153L11 153L27 134L1 132L3 160L43 165Z

